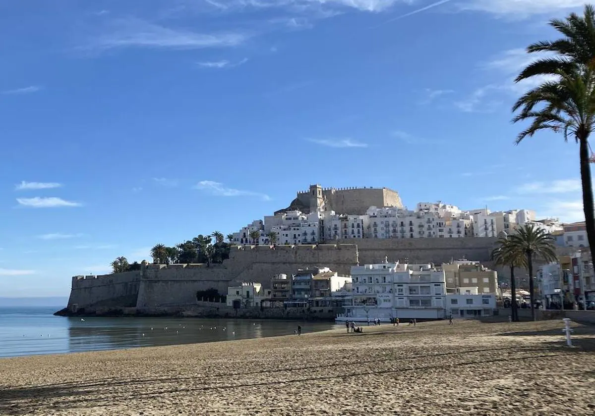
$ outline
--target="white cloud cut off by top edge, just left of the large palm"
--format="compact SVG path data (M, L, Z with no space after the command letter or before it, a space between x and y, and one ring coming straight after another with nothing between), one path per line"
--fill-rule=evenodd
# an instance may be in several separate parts
M525 18L533 14L583 7L584 0L468 0L459 1L459 10L483 11L499 16Z

